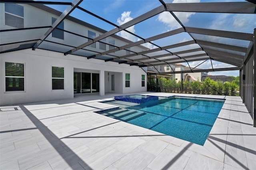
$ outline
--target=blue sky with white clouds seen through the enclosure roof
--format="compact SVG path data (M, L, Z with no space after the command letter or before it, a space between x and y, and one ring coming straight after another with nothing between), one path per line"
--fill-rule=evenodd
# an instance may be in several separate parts
M239 2L244 0L164 0L166 3L182 3L182 2ZM118 26L162 5L158 0L84 0L79 6L82 8L116 24ZM66 7L58 8L59 10L64 10ZM244 32L244 33L253 33L253 29L256 28L256 15L254 14L218 14L218 13L195 13L195 12L174 12L180 21L187 27L199 27L207 29L217 29L225 31L234 31L234 32ZM115 26L108 24L82 12L81 10L74 10L71 14L80 20L88 22L94 26L100 27L106 31L112 30ZM170 30L175 30L181 28L180 24L172 17L169 12L162 12L148 20L145 20L141 23L138 23L130 28L127 28L130 32L137 34L138 36L146 39ZM118 32L118 36L136 42L141 40L138 37L135 37L127 32ZM193 35L193 34L192 34ZM228 38L218 38L212 36L198 36L194 35L200 40L205 40L210 38L212 42L221 42L225 43L230 42ZM187 33L181 33L174 36L164 38L162 40L155 40L153 43L160 46L171 45L175 43L185 42L192 40L191 36ZM233 39L230 45L238 45L247 47L249 42L242 40ZM156 46L146 43L143 44L146 47L153 49ZM192 47L192 46L191 46ZM170 51L175 51L175 49L170 49ZM184 49L179 49L184 50ZM159 52L160 54L160 52ZM241 53L244 55L244 53ZM202 61L190 62L190 67L195 67L200 64ZM187 63L182 63L187 65ZM200 65L199 68L210 69L212 68L222 68L222 67L234 67L226 63L220 63L218 61L208 60ZM211 75L239 75L239 71L219 71L211 72Z

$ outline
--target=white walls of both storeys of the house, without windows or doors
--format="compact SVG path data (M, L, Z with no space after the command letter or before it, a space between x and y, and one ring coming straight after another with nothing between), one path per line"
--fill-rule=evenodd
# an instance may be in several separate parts
M11 26L5 25L4 5L4 3L0 3L0 29L15 29ZM37 8L36 6L27 4L19 5L24 6L24 28L51 26L52 17L58 18L58 16L61 14L60 12L45 6L41 9ZM1 44L5 44L27 40L38 40L42 37L42 35L46 33L48 29L49 28L18 30L14 32L16 35L12 35L12 39L10 39L9 32L2 32L0 42ZM86 57L82 57L91 56L96 53L107 51L110 49L110 45L106 45L106 50L102 50L99 48L100 43L96 42L96 47L87 46L84 48L91 51L85 52L78 50L73 53L74 55L69 54L65 56L64 52L68 51L66 46L64 47L62 45L53 45L53 43L51 43L52 41L60 44L72 44L72 46L78 46L90 41L90 39L85 38L88 37L88 30L94 32L96 37L104 34L106 31L70 16L64 20L64 30L79 34L80 36L84 37L64 32L64 40L62 40L59 38L54 38L50 34L46 38L46 40L49 42L42 42L35 51L30 48L0 54L0 105L13 105L20 103L73 98L74 72L99 73L100 95L104 95L105 93L136 93L145 92L147 90L146 85L145 87L142 87L141 85L141 75L145 75L146 77L146 73L140 67L130 66L127 64L119 64L112 61L105 62L104 60L100 59L87 59ZM131 43L130 41L116 35L111 36L111 39L115 41L114 45L116 46L122 46ZM106 38L106 43L109 43L109 40L110 38ZM72 47L70 47L70 49L72 49ZM148 48L143 46L136 46L131 47L130 50L144 51L147 49ZM111 54L115 56L121 56L126 55L127 53L126 50L121 50ZM5 62L24 63L24 91L6 92ZM64 90L52 90L52 66L64 67ZM125 73L130 73L130 87L125 87ZM111 90L112 74L115 76L114 91Z

